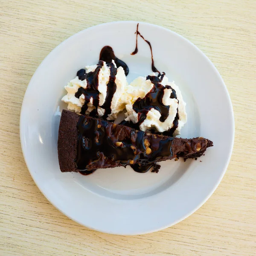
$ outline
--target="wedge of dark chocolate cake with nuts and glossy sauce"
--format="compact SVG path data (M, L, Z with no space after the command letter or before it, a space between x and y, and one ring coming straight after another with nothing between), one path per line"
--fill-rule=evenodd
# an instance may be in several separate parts
M181 139L136 131L90 116L63 110L58 133L61 172L91 173L99 168L131 165L146 172L156 162L200 157L212 141L202 137Z

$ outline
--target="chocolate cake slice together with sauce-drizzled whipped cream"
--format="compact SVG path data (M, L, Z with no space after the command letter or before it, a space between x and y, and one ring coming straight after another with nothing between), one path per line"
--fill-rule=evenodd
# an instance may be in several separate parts
M196 159L213 145L202 137L174 137L187 121L186 103L175 82L154 67L152 49L151 58L158 75L139 76L128 84L128 66L105 46L98 64L79 70L65 86L62 101L68 111L62 111L58 134L61 172L87 175L128 165L136 172L158 172L157 162ZM122 112L125 120L113 123Z

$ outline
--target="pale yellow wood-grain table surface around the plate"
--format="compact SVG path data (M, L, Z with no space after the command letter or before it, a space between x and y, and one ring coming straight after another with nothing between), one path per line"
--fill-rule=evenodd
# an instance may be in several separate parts
M256 255L256 1L120 2L0 0L0 255ZM99 233L64 216L20 148L20 108L38 65L69 36L115 20L155 23L192 41L221 73L235 113L233 155L212 197L181 223L141 236Z

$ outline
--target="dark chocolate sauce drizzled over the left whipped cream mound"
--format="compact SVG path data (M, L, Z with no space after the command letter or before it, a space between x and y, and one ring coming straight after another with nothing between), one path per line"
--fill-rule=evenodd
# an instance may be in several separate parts
M109 81L107 84L107 95L105 98L105 102L101 108L105 109L104 116L102 116L103 119L107 119L108 115L111 113L111 102L114 96L114 93L116 92L116 73L117 68L112 63L112 60L115 61L116 67L123 67L125 70L125 75L127 76L129 73L129 68L125 64L124 61L121 61L119 58L116 58L113 49L110 46L105 46L102 48L100 55L99 55L99 63L97 64L96 69L93 72L86 73L86 70L81 69L77 72L77 76L80 80L87 81L87 87L84 89L83 87L80 87L78 91L76 92L75 96L76 98L79 98L82 94L84 95L84 105L81 108L81 114L85 114L85 112L88 109L88 103L90 102L90 99L92 99L92 104L95 107L93 111L90 112L90 116L98 116L98 107L99 107L99 71L101 70L103 66L103 61L106 62L107 66L110 67L110 76Z

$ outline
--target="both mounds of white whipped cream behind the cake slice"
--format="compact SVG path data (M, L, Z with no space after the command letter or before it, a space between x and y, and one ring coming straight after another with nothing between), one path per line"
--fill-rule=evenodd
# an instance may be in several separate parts
M111 74L111 65L116 70L114 76L113 69ZM98 73L96 69L99 71ZM98 95L97 104L93 102L93 96L90 97L88 93L92 90L92 84L87 84L87 79L80 80L79 76L76 76L75 79L72 79L65 86L67 94L62 98L62 101L68 104L68 110L81 113L82 108L86 107L84 111L86 114L96 110L96 116L102 116L107 120L114 120L120 112L126 109L125 120L131 121L134 124L139 123L141 131L153 128L158 132L164 132L171 129L174 136L180 134L180 129L187 119L186 103L183 100L179 87L175 82L169 82L166 76L163 75L160 80L152 73L148 76L151 79L147 79L146 76L139 76L131 84L128 84L124 69L121 66L116 69L116 63L113 60L111 64L106 64L105 61L102 61L97 65L86 66L85 72L86 74L95 72L93 79L98 79L97 88L93 89L94 93ZM98 78L95 76L98 76ZM110 79L114 81L110 81ZM157 81L156 84L154 84L154 80ZM90 83L92 82L90 81ZM113 83L116 84L116 89L112 92L113 96L110 102L110 99L108 99L108 89L113 87ZM154 106L151 106L152 102L149 99L146 100L145 97L152 93L156 94L156 87L158 88L157 90L160 90L160 96L157 96L157 100L151 99L154 101ZM84 90L84 93L79 93L81 89ZM144 103L137 104L138 100L144 101ZM106 108L107 101L110 108ZM137 107L135 107L135 104L137 104ZM108 111L107 115L105 115L106 111ZM143 120L141 119L141 113L144 113Z

